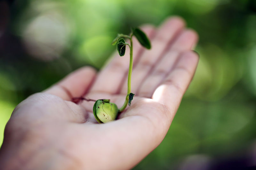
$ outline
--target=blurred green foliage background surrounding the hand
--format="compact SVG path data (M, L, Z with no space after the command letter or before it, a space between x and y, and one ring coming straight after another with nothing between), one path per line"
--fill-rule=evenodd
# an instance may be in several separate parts
M172 15L198 32L200 61L164 141L134 169L182 169L194 159L204 165L250 152L255 0L0 1L0 145L12 110L27 96L84 65L100 69L116 33Z

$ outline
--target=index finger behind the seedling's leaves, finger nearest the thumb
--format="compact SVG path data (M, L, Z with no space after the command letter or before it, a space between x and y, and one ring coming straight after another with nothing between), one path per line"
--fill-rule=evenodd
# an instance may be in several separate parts
M152 25L143 26L141 29L149 37L153 36L155 30ZM135 40L135 38L133 38L133 42L133 56L134 60L136 60L144 49L139 45L139 42ZM124 75L126 75L128 71L130 60L129 53L130 49L127 47L123 57L120 57L118 53L116 53L114 59L108 66L100 71L90 91L115 94L118 91L120 83L123 81Z

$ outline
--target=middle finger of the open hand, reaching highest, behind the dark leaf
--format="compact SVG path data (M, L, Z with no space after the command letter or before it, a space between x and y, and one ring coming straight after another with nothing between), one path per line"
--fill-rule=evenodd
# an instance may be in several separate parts
M138 63L134 63L132 70L131 91L137 93L141 82L154 64L161 58L165 49L170 45L174 37L183 29L185 23L178 17L170 18L164 22L152 40L152 49L142 54ZM127 81L123 84L121 93L127 91Z

